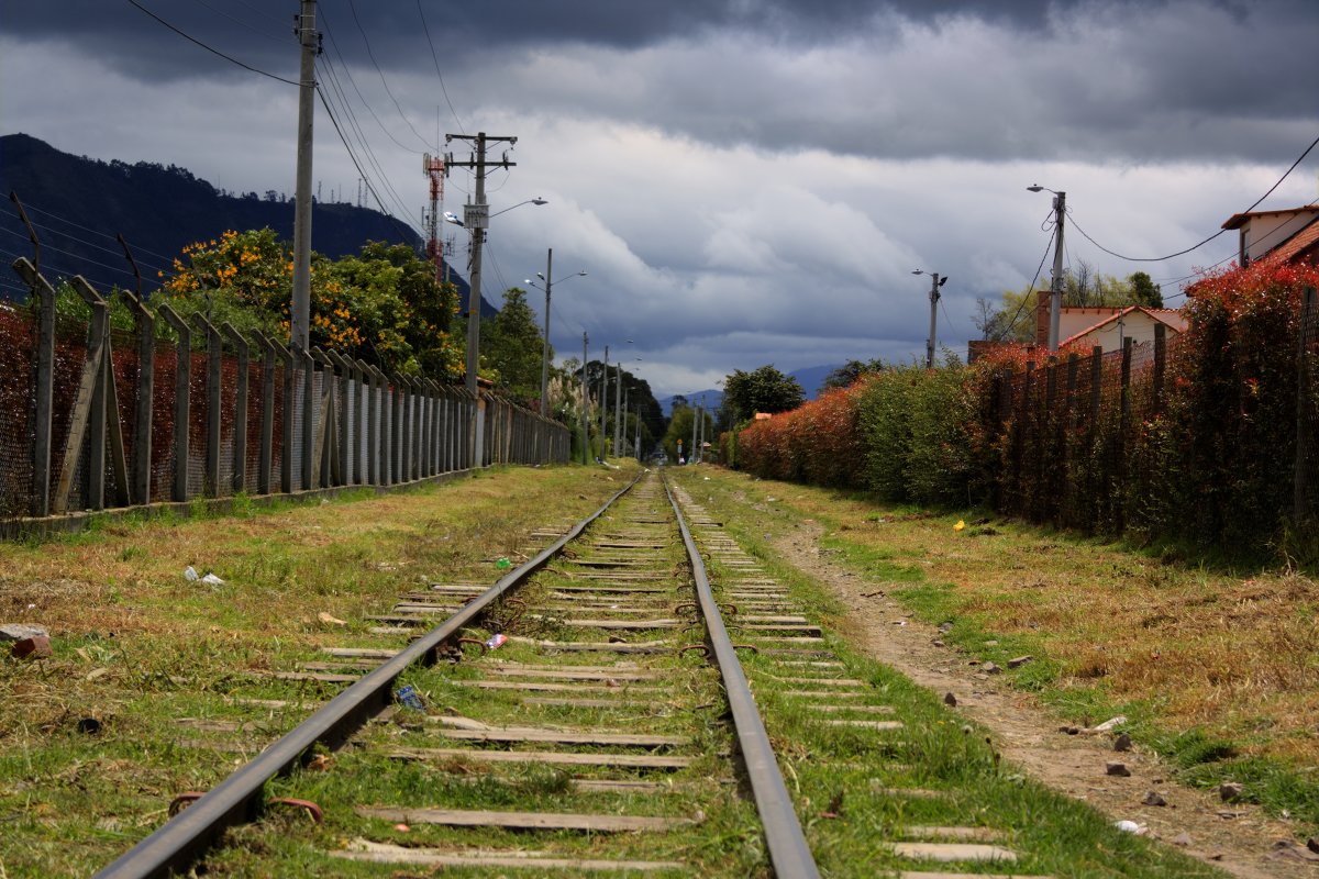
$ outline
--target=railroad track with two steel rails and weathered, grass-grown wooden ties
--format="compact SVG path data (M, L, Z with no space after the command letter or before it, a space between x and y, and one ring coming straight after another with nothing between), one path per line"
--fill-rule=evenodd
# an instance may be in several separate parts
M873 739L860 759L902 752L904 721L845 675L819 625L657 474L493 586L400 596L371 635L406 646L330 647L273 673L339 692L222 784L177 799L174 817L98 875L185 872L228 846L212 857L239 875L412 865L810 878L819 870L772 741L806 717L844 733L816 759L859 759L855 735ZM400 704L404 687L419 704ZM752 695L762 689L794 709L774 739ZM818 818L819 805L798 808ZM876 846L890 871L1016 858L984 828L905 826Z

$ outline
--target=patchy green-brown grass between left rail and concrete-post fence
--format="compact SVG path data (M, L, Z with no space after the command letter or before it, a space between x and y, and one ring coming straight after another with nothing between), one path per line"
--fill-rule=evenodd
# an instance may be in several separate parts
M0 656L0 875L95 872L154 829L177 793L207 789L305 714L235 696L331 692L261 672L323 660L322 644L381 646L365 635L367 614L426 579L493 582L499 557L549 543L530 531L582 518L627 478L509 468L0 544L0 622L42 625L54 647L37 662ZM224 582L189 581L189 565Z

